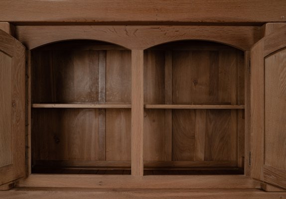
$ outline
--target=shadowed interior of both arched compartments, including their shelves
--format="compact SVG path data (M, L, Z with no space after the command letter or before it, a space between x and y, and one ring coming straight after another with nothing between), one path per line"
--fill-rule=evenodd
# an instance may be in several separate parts
M31 51L32 173L131 174L131 50ZM144 175L244 173L244 52L208 41L144 51Z

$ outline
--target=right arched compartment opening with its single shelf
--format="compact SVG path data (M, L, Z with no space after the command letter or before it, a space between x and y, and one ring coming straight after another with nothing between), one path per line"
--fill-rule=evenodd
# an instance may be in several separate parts
M210 41L144 51L144 175L243 174L244 52Z

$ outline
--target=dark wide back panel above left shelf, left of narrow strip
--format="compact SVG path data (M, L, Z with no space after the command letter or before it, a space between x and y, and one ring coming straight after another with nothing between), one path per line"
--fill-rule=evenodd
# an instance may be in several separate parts
M38 103L98 101L97 51L32 51L32 99Z

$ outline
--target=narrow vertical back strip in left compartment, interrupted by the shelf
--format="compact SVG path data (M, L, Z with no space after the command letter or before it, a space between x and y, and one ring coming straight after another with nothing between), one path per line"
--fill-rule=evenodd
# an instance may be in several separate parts
M98 102L106 102L106 51L99 51L98 55L99 76L98 76ZM98 110L98 137L97 137L97 153L98 160L106 160L106 110L100 108Z

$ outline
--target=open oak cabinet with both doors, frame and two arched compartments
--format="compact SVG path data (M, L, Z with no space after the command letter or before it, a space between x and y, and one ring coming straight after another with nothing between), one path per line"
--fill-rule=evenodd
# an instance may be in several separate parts
M0 184L286 189L286 26L260 31L0 31Z

